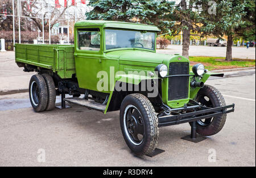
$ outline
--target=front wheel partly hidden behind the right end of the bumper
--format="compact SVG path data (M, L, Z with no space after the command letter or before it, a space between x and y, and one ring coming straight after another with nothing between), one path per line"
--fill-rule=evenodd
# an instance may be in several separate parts
M209 100L205 99L207 97ZM226 106L222 94L213 86L205 85L197 93L196 101L208 107ZM217 134L226 122L226 114L218 115L213 118L207 118L196 122L196 131L200 135L210 136ZM191 123L190 123L191 124Z

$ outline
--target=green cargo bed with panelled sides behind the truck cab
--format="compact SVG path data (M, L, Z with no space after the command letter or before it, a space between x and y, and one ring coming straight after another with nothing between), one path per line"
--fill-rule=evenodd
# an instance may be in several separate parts
M15 44L15 62L51 69L61 78L76 73L73 45Z

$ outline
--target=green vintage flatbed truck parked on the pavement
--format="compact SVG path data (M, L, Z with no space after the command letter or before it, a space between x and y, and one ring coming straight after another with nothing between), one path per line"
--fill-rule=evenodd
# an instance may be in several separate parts
M15 44L16 64L38 72L29 84L33 109L52 110L61 95L62 109L70 102L105 114L120 110L123 138L137 155L154 153L159 127L188 122L193 142L197 133L217 134L234 104L204 83L223 74L203 64L191 71L187 58L156 53L158 32L145 24L86 20L75 24L74 45Z

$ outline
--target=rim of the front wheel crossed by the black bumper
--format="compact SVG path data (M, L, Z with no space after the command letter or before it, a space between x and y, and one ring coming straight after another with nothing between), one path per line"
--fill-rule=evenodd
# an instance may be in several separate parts
M210 98L207 96L197 96L196 99L197 99L197 102L199 102L199 104L201 104L201 105L204 105L207 107L213 107L213 104L210 101ZM212 123L212 121L213 121L213 117L199 120L199 121L197 121L197 123L201 126L206 127L206 126L209 126L210 123Z

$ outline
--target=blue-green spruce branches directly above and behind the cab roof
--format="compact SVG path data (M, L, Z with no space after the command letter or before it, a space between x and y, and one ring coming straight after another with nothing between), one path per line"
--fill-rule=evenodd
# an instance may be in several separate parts
M89 20L115 20L154 24L162 32L174 25L170 16L174 2L168 0L91 0L92 10L86 13Z

